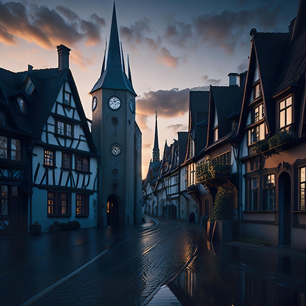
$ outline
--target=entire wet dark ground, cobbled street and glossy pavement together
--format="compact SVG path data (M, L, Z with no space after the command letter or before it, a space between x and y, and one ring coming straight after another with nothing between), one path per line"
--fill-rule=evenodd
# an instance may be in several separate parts
M306 305L305 250L211 244L197 224L154 219L0 236L0 305Z

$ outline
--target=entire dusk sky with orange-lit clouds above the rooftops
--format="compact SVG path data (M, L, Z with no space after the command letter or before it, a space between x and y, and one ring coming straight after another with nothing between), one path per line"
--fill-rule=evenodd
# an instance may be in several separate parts
M228 86L247 70L252 28L287 32L299 0L116 0L125 63L129 55L142 131L142 175L152 157L155 109L159 149L188 131L190 90ZM101 73L113 0L0 0L0 66L24 71L58 66L56 46L70 51L70 69L87 118L88 94Z

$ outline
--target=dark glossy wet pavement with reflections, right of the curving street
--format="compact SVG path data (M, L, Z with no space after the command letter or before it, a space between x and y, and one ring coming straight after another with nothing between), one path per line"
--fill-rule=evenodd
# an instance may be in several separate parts
M305 306L306 262L195 238L195 260L170 284L183 306Z

